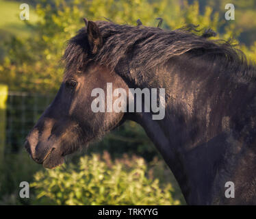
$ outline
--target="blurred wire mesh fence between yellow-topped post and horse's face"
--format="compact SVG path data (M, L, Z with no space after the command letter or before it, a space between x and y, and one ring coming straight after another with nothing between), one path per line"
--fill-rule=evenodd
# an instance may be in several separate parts
M18 152L25 137L51 103L53 95L8 92L5 119L5 153Z

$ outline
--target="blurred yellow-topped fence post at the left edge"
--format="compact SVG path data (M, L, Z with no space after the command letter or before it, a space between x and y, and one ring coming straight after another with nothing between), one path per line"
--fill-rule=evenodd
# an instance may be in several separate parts
M6 128L6 101L8 98L8 86L0 84L0 162L3 161Z

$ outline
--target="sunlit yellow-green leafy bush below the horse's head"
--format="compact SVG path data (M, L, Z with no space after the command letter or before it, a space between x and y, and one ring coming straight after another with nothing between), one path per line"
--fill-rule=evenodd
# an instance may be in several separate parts
M146 174L148 173L148 175ZM141 157L93 154L34 176L38 203L57 205L179 205L170 183L160 185Z

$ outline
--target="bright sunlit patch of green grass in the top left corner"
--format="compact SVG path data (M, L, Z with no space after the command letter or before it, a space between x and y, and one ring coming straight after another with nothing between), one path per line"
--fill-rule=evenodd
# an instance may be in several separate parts
M22 2L0 0L0 36L6 37L9 34L27 37L31 34L31 29L25 25L25 21L20 19L20 5ZM29 22L36 22L38 17L34 8L29 5Z

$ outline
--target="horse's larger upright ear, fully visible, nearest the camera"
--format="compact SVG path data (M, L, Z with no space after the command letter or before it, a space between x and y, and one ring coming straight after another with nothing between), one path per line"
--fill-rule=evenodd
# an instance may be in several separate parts
M92 54L97 53L103 45L103 39L99 27L93 21L87 23L87 36Z

